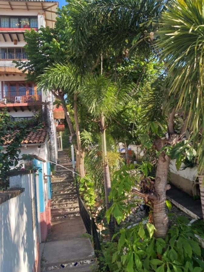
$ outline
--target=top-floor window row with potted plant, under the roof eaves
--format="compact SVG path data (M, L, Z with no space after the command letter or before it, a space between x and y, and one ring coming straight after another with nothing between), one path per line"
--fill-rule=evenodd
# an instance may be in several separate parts
M1 17L0 27L2 28L38 28L37 17Z

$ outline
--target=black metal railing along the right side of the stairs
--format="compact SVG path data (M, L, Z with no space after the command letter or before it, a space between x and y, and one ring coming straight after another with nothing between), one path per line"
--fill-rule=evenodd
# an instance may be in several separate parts
M78 196L78 200L79 200L79 212L80 212L80 215L81 215L82 220L84 222L87 233L89 235L91 235L93 238L93 246L94 246L95 255L97 257L99 270L108 272L110 270L109 270L109 267L107 265L105 265L105 263L103 261L104 255L102 253L101 244L99 241L99 234L97 232L97 227L96 227L94 218L93 218L92 214L89 212L89 210L87 209L82 198L79 196L79 185L78 185L76 175L75 175L75 183L76 183L77 196Z

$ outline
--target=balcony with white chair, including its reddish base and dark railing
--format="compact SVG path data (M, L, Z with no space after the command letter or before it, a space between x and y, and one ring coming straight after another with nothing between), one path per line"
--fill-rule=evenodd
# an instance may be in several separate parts
M15 112L24 109L38 109L42 105L42 92L36 91L6 91L2 93L2 99L0 99L0 108L7 108L8 112L13 109Z

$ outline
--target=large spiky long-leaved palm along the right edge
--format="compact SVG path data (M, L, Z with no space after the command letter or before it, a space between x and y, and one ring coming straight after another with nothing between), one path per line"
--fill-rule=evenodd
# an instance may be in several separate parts
M197 147L204 215L204 1L178 0L162 13L157 47L170 78L170 94L183 107L192 146ZM199 145L198 145L199 143Z

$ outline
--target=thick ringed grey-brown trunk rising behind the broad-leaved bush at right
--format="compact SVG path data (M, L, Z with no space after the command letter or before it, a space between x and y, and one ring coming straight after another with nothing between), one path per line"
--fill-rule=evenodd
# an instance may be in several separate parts
M157 237L165 238L168 228L168 215L166 212L166 190L170 186L167 184L168 169L170 157L164 152L159 155L156 177L154 183L154 192L158 198L153 200L153 219L156 228Z

